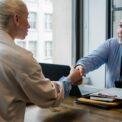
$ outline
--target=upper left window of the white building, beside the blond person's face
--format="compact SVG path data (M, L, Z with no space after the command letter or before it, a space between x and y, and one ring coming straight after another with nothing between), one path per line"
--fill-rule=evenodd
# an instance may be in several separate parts
M37 20L37 14L35 12L30 12L29 13L29 24L31 29L36 28L36 20Z

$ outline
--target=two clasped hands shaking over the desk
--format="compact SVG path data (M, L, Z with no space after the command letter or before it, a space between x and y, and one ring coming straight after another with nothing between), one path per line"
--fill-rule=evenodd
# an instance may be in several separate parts
M80 85L83 82L82 77L84 76L85 71L81 65L76 66L71 69L68 78L71 80L72 85Z

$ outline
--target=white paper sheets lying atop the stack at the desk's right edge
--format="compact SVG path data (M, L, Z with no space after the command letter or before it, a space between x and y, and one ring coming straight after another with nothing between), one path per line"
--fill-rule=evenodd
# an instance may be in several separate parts
M99 92L95 92L91 94L90 96L99 96L104 98L115 98L115 99L121 99L122 100L122 88L108 88L103 89Z

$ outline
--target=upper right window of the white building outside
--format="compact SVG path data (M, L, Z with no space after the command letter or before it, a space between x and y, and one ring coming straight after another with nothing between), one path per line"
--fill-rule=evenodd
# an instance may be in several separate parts
M52 31L52 14L45 14L45 30Z

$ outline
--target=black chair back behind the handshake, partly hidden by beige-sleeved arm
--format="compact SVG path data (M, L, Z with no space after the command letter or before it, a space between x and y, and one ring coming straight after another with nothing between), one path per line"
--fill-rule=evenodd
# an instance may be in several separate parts
M67 76L70 72L70 66L61 64L39 63L42 67L45 77L52 81L58 81L62 76ZM79 88L72 86L70 96L81 96Z

